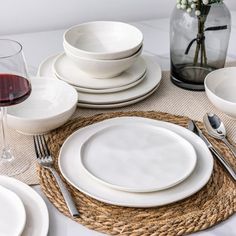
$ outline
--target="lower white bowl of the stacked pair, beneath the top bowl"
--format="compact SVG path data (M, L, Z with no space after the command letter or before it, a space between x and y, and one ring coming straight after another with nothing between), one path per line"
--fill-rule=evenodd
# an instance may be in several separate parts
M67 47L65 53L80 70L91 77L108 79L120 75L128 70L142 53L142 47L132 56L117 60L98 60L78 57L72 54Z

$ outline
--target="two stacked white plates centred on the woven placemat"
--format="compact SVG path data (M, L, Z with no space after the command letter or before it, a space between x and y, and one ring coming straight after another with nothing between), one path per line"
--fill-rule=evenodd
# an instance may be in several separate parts
M205 143L183 127L121 117L68 137L59 167L70 184L99 201L155 207L199 191L212 174L213 158Z

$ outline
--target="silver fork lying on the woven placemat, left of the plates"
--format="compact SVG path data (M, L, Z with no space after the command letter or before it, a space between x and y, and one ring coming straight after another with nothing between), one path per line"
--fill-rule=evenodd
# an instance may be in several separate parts
M34 136L34 148L35 148L38 163L44 168L50 170L53 176L55 177L71 216L78 217L79 212L76 209L72 196L67 190L60 176L58 175L58 173L53 167L53 158L50 154L45 137L43 135Z

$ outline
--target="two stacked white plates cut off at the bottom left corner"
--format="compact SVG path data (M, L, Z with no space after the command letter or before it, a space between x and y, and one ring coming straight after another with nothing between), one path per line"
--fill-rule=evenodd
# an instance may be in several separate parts
M28 185L0 175L0 235L46 236L48 210Z

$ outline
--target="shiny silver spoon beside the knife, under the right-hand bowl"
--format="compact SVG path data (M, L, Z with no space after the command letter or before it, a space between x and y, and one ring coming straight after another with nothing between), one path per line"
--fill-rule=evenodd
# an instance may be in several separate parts
M210 136L222 140L236 157L236 147L226 139L226 129L221 119L213 113L207 113L203 117L203 123Z

